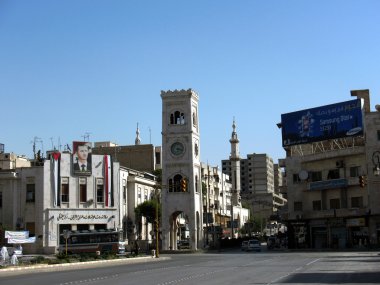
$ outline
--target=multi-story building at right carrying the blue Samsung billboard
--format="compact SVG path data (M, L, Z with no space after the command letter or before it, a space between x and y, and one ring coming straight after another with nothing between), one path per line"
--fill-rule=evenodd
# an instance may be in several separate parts
M380 174L380 113L370 111L368 90L352 91L351 95L359 100L299 111L302 119L296 119L296 125L304 126L298 128L302 144L289 144L299 138L292 135L287 140L284 124L288 117L283 115L287 156L280 164L286 168L283 188L288 198L289 247L379 244L380 179L376 175ZM318 130L312 131L315 126ZM319 138L313 141L313 136Z

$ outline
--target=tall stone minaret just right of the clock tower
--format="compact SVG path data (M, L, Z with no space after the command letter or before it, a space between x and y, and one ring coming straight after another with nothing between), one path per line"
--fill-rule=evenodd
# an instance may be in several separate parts
M239 139L236 133L235 118L232 124L232 135L230 139L231 143L231 179L232 179L232 205L241 206L240 199L240 156L239 156Z

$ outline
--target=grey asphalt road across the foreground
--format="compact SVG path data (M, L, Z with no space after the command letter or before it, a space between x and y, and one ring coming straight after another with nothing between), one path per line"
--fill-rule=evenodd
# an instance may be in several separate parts
M168 259L35 270L1 285L379 284L379 252L241 252L162 255Z

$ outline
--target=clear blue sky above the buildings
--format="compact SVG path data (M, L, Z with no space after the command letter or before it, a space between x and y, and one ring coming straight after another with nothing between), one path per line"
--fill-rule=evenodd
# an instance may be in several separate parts
M281 114L380 94L380 1L0 1L0 143L161 145L161 90L200 101L201 159L283 158ZM41 146L40 146L41 147Z

